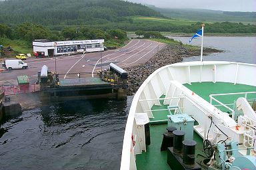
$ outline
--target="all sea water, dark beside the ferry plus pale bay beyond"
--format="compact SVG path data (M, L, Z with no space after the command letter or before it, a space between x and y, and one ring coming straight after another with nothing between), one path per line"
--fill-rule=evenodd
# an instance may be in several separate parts
M173 38L184 43L188 39ZM204 41L205 46L225 52L203 60L256 64L255 37L204 37ZM24 111L1 125L0 169L119 169L132 99L80 100Z

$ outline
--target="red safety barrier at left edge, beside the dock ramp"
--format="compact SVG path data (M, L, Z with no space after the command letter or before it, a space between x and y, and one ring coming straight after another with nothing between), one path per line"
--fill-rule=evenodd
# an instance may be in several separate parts
M39 84L24 84L19 86L8 85L2 86L2 91L5 93L5 96L15 95L15 94L25 94L29 92L39 92Z

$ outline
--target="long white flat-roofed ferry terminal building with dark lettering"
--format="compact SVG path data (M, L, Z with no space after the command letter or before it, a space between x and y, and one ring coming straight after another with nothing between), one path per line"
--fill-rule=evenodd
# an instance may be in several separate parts
M95 52L104 50L103 43L104 39L53 42L39 39L33 41L33 52L35 56L41 57L76 52Z

